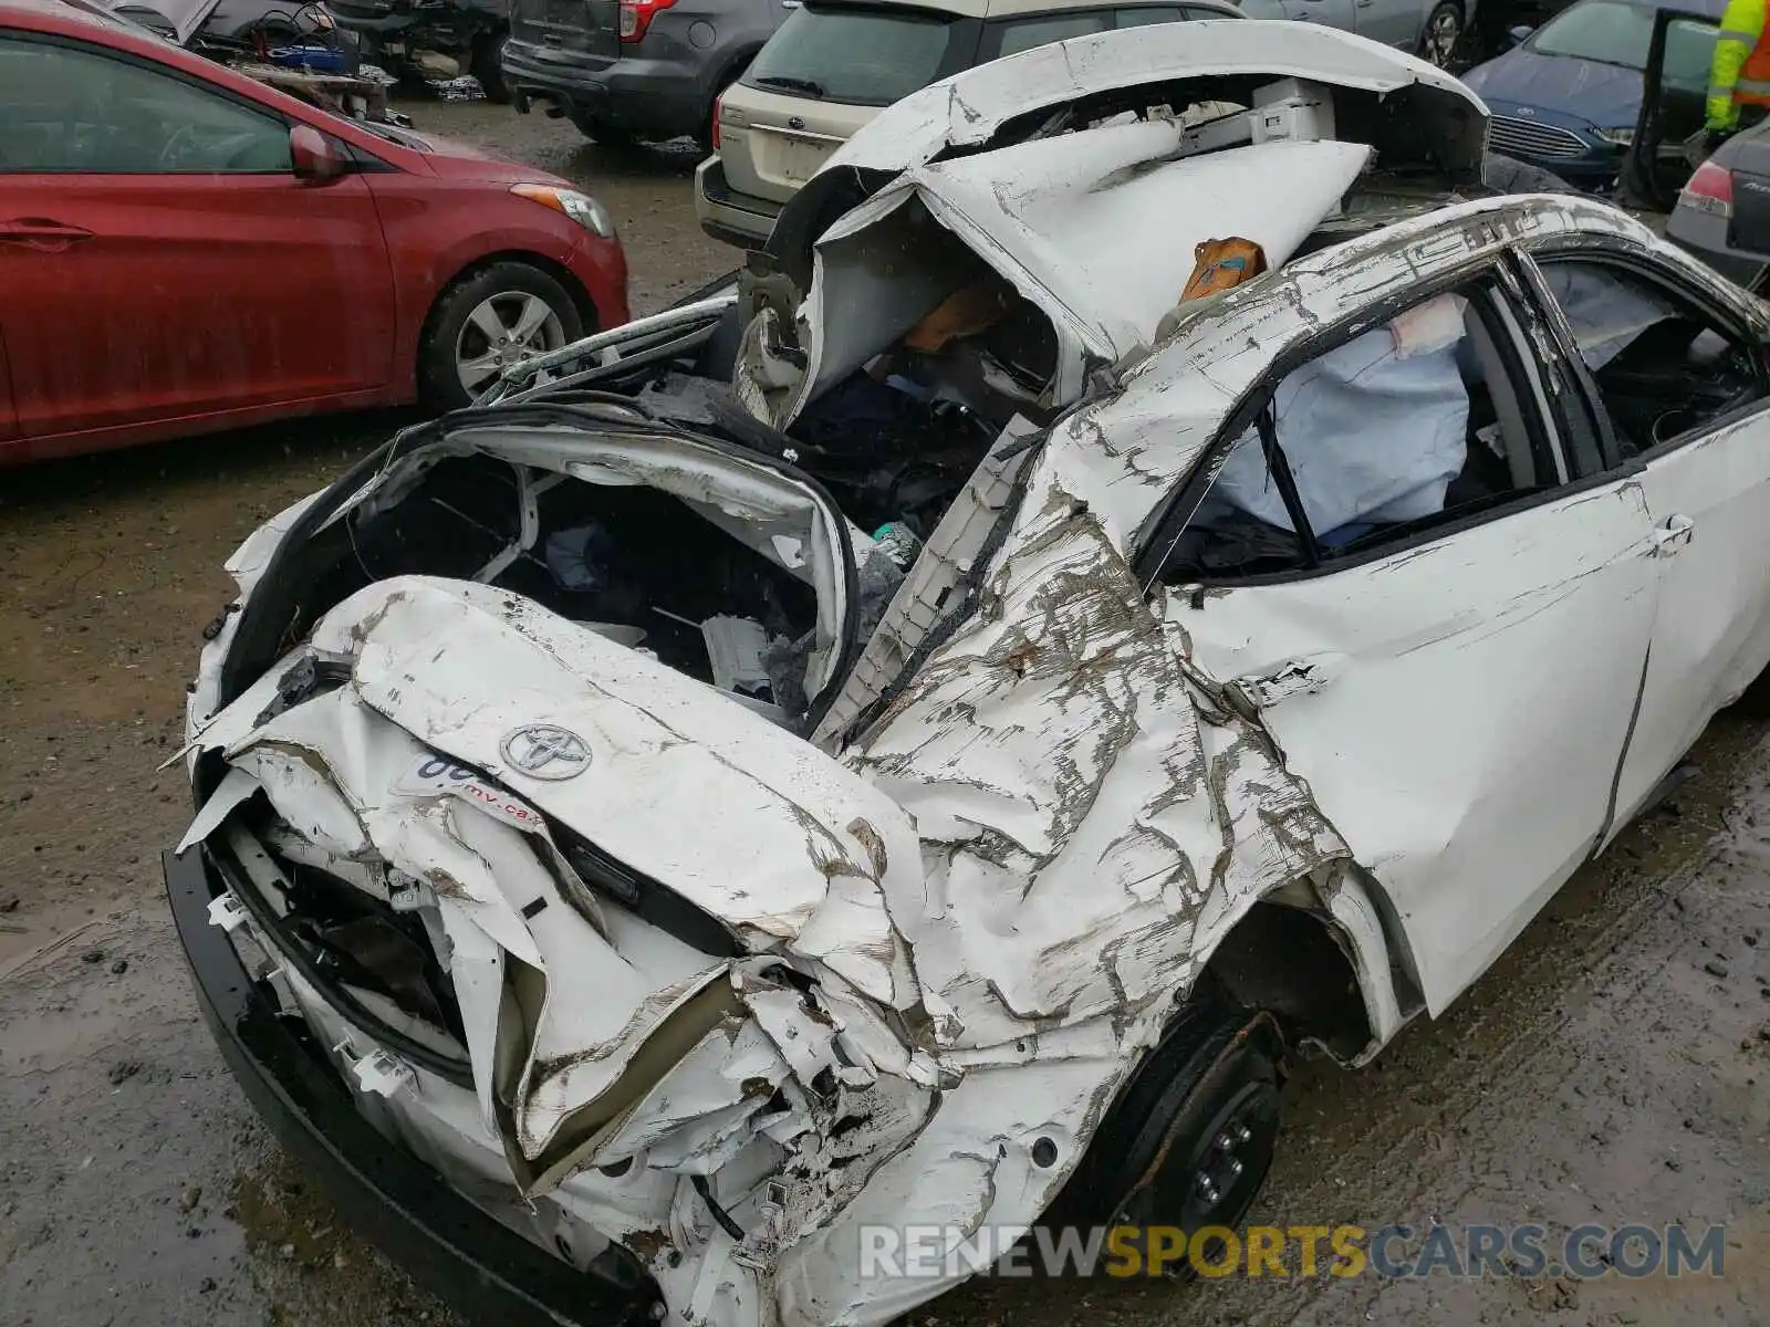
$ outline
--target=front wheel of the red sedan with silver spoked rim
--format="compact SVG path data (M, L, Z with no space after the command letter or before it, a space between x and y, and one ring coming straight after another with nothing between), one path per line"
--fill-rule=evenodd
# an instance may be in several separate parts
M540 317L533 313L531 301L545 306L545 318L529 331L527 340L496 345L487 320L496 318L506 334L520 334L526 317ZM499 354L506 364L519 363L581 336L584 318L559 281L526 262L492 264L457 280L437 295L418 345L418 396L437 414L464 409L496 380L497 366L492 361ZM464 359L485 370L474 389L462 380Z

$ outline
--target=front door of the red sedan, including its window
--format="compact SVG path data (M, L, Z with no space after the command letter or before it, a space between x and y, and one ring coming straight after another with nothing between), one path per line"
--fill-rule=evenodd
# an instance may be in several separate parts
M133 50L0 34L0 331L25 439L388 382L373 198L296 179L290 124Z

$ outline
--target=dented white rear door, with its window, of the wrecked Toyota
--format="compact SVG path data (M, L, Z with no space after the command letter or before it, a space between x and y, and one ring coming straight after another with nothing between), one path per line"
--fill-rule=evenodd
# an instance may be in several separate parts
M1281 361L1158 547L1175 639L1389 897L1432 1012L1589 856L1653 628L1641 487L1551 407L1519 290Z

